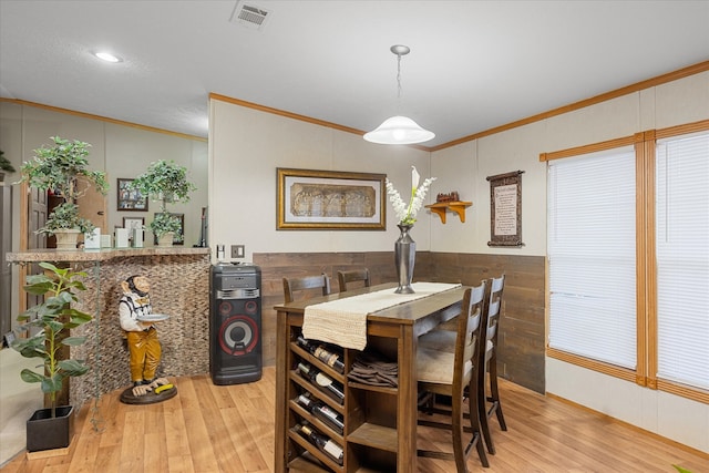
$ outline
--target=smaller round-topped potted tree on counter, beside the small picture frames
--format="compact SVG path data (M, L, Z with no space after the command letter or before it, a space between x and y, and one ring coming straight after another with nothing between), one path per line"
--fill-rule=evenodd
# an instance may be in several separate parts
M167 212L167 204L189 202L189 193L197 188L187 179L187 168L174 161L160 160L151 163L130 186L161 203L160 213L155 213L148 228L155 234L158 245L171 246L173 235L182 230L182 224L179 218Z

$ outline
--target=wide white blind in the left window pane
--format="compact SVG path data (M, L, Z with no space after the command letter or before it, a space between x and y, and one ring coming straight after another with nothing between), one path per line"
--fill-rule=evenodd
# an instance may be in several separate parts
M635 153L548 163L549 347L636 368Z

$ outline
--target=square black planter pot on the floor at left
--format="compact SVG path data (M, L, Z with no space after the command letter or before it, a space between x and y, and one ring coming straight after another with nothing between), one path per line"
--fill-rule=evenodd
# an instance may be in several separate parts
M51 409L40 409L27 421L27 450L64 449L69 446L73 434L74 407L56 408L56 417L52 418Z

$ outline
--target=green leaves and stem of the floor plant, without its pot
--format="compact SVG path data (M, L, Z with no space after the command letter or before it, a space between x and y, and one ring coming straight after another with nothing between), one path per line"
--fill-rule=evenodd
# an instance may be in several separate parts
M20 377L25 382L41 383L42 392L49 394L52 418L56 413L56 393L62 390L65 378L78 377L89 371L83 360L61 359L62 347L78 347L85 337L71 337L70 330L92 320L89 313L73 309L76 291L86 290L83 271L61 269L50 263L40 263L48 274L28 276L24 290L34 296L44 296L44 301L20 313L19 321L25 323L20 330L39 331L29 338L18 338L12 348L25 358L41 358L43 372L23 369Z

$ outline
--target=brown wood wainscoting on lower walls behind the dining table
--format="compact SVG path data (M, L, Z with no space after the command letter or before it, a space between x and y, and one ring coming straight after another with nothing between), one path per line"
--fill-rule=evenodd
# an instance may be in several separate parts
M254 254L261 268L261 341L264 364L276 362L276 311L284 301L284 277L330 277L339 290L337 271L369 268L371 282L397 280L393 251ZM544 257L462 253L417 253L414 280L477 285L506 275L504 313L500 322L497 372L520 385L544 392Z

